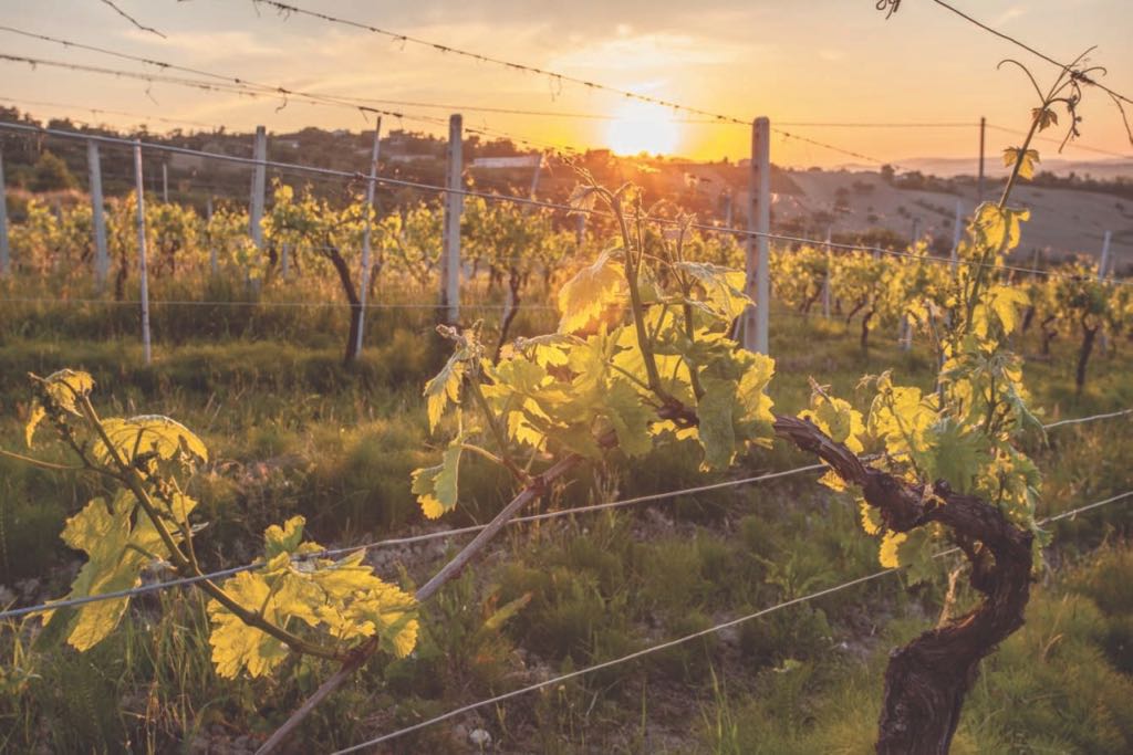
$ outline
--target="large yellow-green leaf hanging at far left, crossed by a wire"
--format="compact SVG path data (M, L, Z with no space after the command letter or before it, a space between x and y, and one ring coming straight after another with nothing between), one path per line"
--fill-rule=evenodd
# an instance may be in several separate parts
M180 496L178 508L188 516L196 505L191 498ZM67 520L62 540L76 550L87 555L87 561L79 569L65 597L85 598L120 590L130 590L142 583L140 574L154 558L168 557L161 535L153 522L144 515L134 522L135 503L127 491L120 492L108 505L103 498L91 500L78 514ZM177 530L170 533L174 540ZM68 614L67 642L79 651L85 651L104 640L121 620L128 598L103 600L78 607ZM63 615L60 615L63 616ZM44 615L44 623L51 621L53 614Z

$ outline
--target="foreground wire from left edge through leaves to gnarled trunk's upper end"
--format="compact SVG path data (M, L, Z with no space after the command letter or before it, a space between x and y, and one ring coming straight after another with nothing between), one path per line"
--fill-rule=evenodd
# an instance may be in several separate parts
M1119 411L1119 412L1108 412L1108 413L1105 413L1105 414L1093 414L1091 417L1082 417L1082 418L1077 418L1077 419L1074 419L1074 420L1062 420L1062 421L1058 421L1058 422L1051 422L1049 424L1045 424L1043 429L1049 430L1049 429L1055 429L1055 428L1063 427L1063 426L1066 426L1066 424L1070 424L1070 423L1081 424L1081 423L1085 423L1085 422L1093 422L1093 421L1097 421L1097 420L1105 420L1105 419L1113 419L1113 418L1116 418L1116 417L1124 417L1126 414L1133 414L1133 409L1123 410L1123 411ZM738 480L725 480L723 482L713 482L713 483L709 483L709 484L697 486L697 487L693 487L693 488L683 488L681 490L670 490L670 491L665 491L665 492L648 494L648 495L645 495L645 496L636 496L633 498L623 498L621 500L605 501L605 503L602 503L602 504L594 504L594 505L589 505L589 506L576 506L573 508L564 508L564 509L559 509L559 511L554 511L554 512L544 512L542 514L530 514L530 515L527 515L527 516L519 516L519 517L510 520L508 522L508 524L509 525L513 525L513 524L525 524L525 523L531 523L531 522L545 522L547 520L561 518L561 517L564 517L564 516L574 516L574 515L578 515L578 514L589 514L589 513L593 513L593 512L608 511L608 509L613 509L613 508L622 508L622 507L632 506L632 505L636 505L636 504L644 504L644 503L649 503L649 501L655 501L655 500L665 500L665 499L670 499L670 498L676 498L679 496L689 496L689 495L695 495L695 494L699 494L699 492L708 492L708 491L712 491L712 490L722 490L722 489L725 489L725 488L734 488L734 487L744 486L744 484L752 484L752 483L756 483L756 482L766 482L766 481L776 480L776 479L780 479L780 478L792 477L792 475L795 475L795 474L802 474L803 472L817 472L817 471L820 471L820 470L824 470L824 469L828 469L828 467L825 464L807 464L804 466L798 466L798 467L790 469L790 470L784 470L784 471L781 471L781 472L768 472L766 474L759 474L759 475L756 475L756 477L741 478L741 479L738 479ZM1125 494L1125 495L1128 495L1128 494ZM441 531L436 531L436 532L426 532L426 533L423 533L423 534L408 535L408 537L404 537L404 538L389 538L389 539L385 539L385 540L377 540L377 541L374 541L374 542L361 543L361 544L357 544L357 546L348 546L348 547L343 547L343 548L329 548L329 549L321 550L321 551L318 551L316 554L309 554L307 556L297 557L295 560L296 561L303 561L303 560L309 560L309 559L316 559L316 558L332 558L334 556L342 556L344 554L353 554L353 552L357 552L357 551L367 551L368 552L370 550L376 550L378 548L390 548L390 547L393 547L393 546L408 546L408 544L415 544L415 543L419 543L419 542L429 542L429 541L433 541L433 540L445 540L445 539L455 538L455 537L460 537L460 535L474 534L474 533L477 533L477 532L486 529L487 526L488 525L486 525L486 524L474 524L474 525L469 525L469 526L465 526L465 527L458 527L458 529L454 529L454 530L441 530ZM142 594L146 594L146 593L155 592L155 591L159 591L159 590L164 590L167 587L177 587L177 586L181 586L181 585L190 585L190 584L195 584L197 582L204 582L206 580L214 580L214 578L231 576L233 574L239 574L241 572L252 572L254 569L263 568L263 566L264 566L263 561L256 561L256 563L253 563L253 564L245 564L245 565L241 565L241 566L233 566L233 567L230 567L230 568L227 568L227 569L220 569L218 572L210 572L207 574L202 574L202 575L196 575L196 576L181 577L181 578L177 578L177 580L169 580L169 581L165 581L165 582L153 582L151 584L139 585L137 587L131 587L129 590L119 590L119 591L116 591L116 592L100 593L100 594L96 594L96 595L85 595L85 597L82 597L82 598L69 598L69 599L65 599L65 600L52 601L52 602L49 602L49 603L41 603L41 604L37 604L37 606L26 606L24 608L14 608L14 609L9 609L9 610L6 610L6 611L0 611L0 620L19 618L22 616L28 616L28 615L32 615L32 614L43 614L45 611L51 611L51 610L56 610L56 609L59 609L59 608L85 606L87 603L95 603L95 602L100 602L100 601L103 601L103 600L119 600L121 598L133 598L134 595L142 595Z

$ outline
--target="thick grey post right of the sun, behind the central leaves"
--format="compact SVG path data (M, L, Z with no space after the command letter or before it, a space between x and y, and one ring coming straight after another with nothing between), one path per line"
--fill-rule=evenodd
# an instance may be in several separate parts
M757 118L751 125L751 173L748 185L747 273L744 293L753 307L743 314L743 348L767 353L770 277L770 121ZM758 235L757 235L758 234Z

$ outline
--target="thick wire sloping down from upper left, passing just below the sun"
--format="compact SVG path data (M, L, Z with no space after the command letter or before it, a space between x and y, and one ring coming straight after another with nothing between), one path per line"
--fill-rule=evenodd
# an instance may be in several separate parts
M80 134L78 131L69 131L69 130L66 130L66 129L52 129L52 128L45 128L45 127L42 127L42 126L29 126L29 125L26 125L26 123L12 123L12 122L9 122L9 121L0 121L0 129L15 130L15 131L24 131L24 132L29 132L29 134L43 134L43 135L46 135L46 136L56 136L56 137L60 137L60 138L90 139L90 140L100 141L100 143L103 143L103 144L113 144L113 145L119 145L119 146L129 146L129 147L133 147L135 144L140 144L140 146L144 149L150 149L150 151L154 151L154 152L165 152L165 153L181 154L181 155L194 155L194 156L199 156L199 157L207 157L207 158L211 158L211 160L219 160L219 161L223 161L223 162L239 163L241 165L265 165L267 168L274 168L274 169L278 169L278 170L281 170L281 171L293 171L293 172L298 172L298 173L309 173L309 174L313 174L313 175L332 175L332 177L339 177L339 178L344 178L344 179L350 179L350 180L361 181L361 182L374 181L375 183L378 183L378 185L397 186L397 187L402 187L402 188L408 188L408 189L417 189L417 190L420 190L420 191L429 191L429 192L436 192L436 194L452 194L452 195L458 195L458 196L462 196L462 197L479 197L479 198L482 198L482 199L484 199L486 201L508 201L508 203L511 203L511 204L521 205L521 206L526 206L526 207L540 207L540 208L550 209L550 211L574 213L574 214L580 214L580 215L595 216L595 217L606 217L606 218L613 217L612 213L606 212L606 211L602 211L602 209L594 209L594 208L586 208L586 207L572 207L570 205L564 205L564 204L561 204L561 203L546 201L546 200L542 200L542 199L533 199L530 197L519 197L519 196L512 196L512 195L492 194L492 192L487 192L487 191L477 191L475 189L454 189L454 188L444 187L444 186L436 186L436 185L432 185L432 183L423 183L423 182L419 182L419 181L408 181L408 180L404 180L404 179L386 178L386 177L381 177L381 175L370 179L368 175L365 175L365 174L363 174L363 173L360 173L358 171L341 171L341 170L335 170L335 169L332 169L332 168L317 168L315 165L301 165L301 164L297 164L297 163L284 163L284 162L273 161L273 160L258 161L258 160L256 160L254 157L240 157L240 156L237 156L237 155L221 155L221 154L215 154L215 153L211 153L211 152L203 152L203 151L199 151L199 149L190 149L188 147L176 147L176 146L172 146L172 145L153 144L153 143L148 143L148 141L138 141L136 139L128 139L128 138L122 138L122 137L101 136L101 135L95 135L95 134ZM875 247L875 246L868 246L868 244L853 244L853 243L842 243L842 242L837 242L837 241L826 241L826 240L820 240L820 239L808 239L806 237L789 235L789 234L783 234L783 233L766 233L766 232L752 231L752 230L747 230L747 229L739 229L739 228L731 228L731 226L723 226L723 225L712 225L712 224L708 224L708 223L682 223L681 221L672 220L672 218L667 218L667 217L651 217L650 216L650 217L646 217L644 220L646 220L649 223L654 223L655 225L662 225L662 226L667 226L667 228L678 228L678 229L680 229L680 228L690 228L690 229L696 229L698 231L704 231L704 232L709 232L709 233L725 233L725 234L738 235L738 237L766 238L766 239L770 239L773 241L785 241L785 242L789 242L789 243L810 244L810 246L813 246L816 248L841 249L841 250L847 250L847 251L870 251L870 252L877 252L879 255L888 255L891 257L911 258L911 259L917 259L917 260L920 260L920 261L923 261L923 263L932 263L932 264L938 264L938 265L955 265L955 264L960 264L960 265L965 265L965 266L969 266L969 267L987 267L987 268L991 268L991 269L1010 271L1010 272L1015 272L1015 273L1021 273L1021 274L1028 274L1028 275L1037 275L1037 276L1043 276L1043 277L1076 280L1076 276L1074 276L1074 275L1067 275L1067 274L1064 274L1064 273L1058 273L1056 271L1043 271L1043 269L1038 269L1038 268L1032 268L1032 267L1021 267L1021 266L1016 266L1016 265L996 265L996 264L993 264L993 263L979 263L979 261L968 260L968 259L952 260L952 259L949 259L947 257L920 256L920 255L915 255L915 254L912 254L912 252L909 252L909 251L898 251L898 250L895 250L895 249L884 249L881 247ZM1116 281L1116 280L1110 280L1109 283L1113 284L1113 285L1133 285L1133 281Z

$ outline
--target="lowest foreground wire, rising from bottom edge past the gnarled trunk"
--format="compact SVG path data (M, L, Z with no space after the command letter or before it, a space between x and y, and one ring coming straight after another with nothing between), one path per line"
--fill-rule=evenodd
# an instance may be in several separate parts
M1038 524L1040 524L1040 525L1041 524L1049 524L1051 522L1057 522L1057 521L1060 521L1060 520L1070 518L1070 517L1076 516L1077 514L1081 514L1083 512L1088 512L1088 511L1091 511L1091 509L1094 509L1094 508L1099 508L1101 506L1111 504L1111 503L1117 501L1117 500L1122 500L1124 498L1128 498L1131 496L1133 496L1133 490L1128 490L1126 492L1118 494L1118 495L1113 496L1110 498L1107 498L1105 500L1098 500L1098 501L1094 501L1092 504L1088 504L1085 506L1081 506L1081 507L1072 509L1070 512L1064 512L1062 514L1058 514L1057 516L1047 517L1045 520L1041 520ZM944 558L945 556L949 556L952 554L955 554L959 550L960 550L959 548L948 548L947 550L943 550L940 552L934 554L932 558ZM649 654L653 654L653 653L661 652L663 650L668 650L671 647L676 647L678 645L682 645L682 644L691 642L693 640L699 640L700 637L706 637L708 635L716 634L716 633L721 632L722 629L727 629L730 627L734 627L734 626L738 626L740 624L744 624L746 621L750 621L752 619L757 619L759 617L767 616L767 615L774 614L776 611L781 611L784 608L790 608L792 606L799 606L801 603L810 602L812 600L818 600L819 598L824 598L826 595L830 595L833 593L841 592L843 590L849 590L850 587L853 587L853 586L857 586L857 585L860 585L860 584L864 584L864 583L871 582L874 580L878 580L878 578L880 578L883 576L887 576L889 574L896 574L900 570L901 570L900 568L881 569L880 572L875 572L872 574L868 574L866 576L861 576L861 577L858 577L855 580L850 580L847 582L843 582L843 583L837 584L837 585L835 585L833 587L826 587L826 589L823 589L823 590L816 590L815 592L808 593L806 595L801 595L799 598L793 598L791 600L785 600L783 602L776 603L776 604L770 606L768 608L763 608L763 609L760 609L758 611L753 611L751 614L747 614L747 615L741 616L739 618L734 618L734 619L731 619L731 620L727 620L727 621L723 621L721 624L716 624L716 625L710 626L710 627L708 627L706 629L700 629L698 632L693 632L691 634L687 634L687 635L684 635L682 637L676 637L676 638L670 640L667 642L662 642L662 643L657 643L657 644L654 644L654 645L649 645L648 647L642 647L641 650L634 651L632 653L627 653L625 655L622 655L620 658L614 658L614 659L611 659L608 661L603 661L600 663L594 663L591 666L587 666L586 668L576 669L574 671L568 671L566 674L561 674L561 675L552 677L550 679L544 679L542 681L536 681L535 684L528 685L526 687L520 687L519 689L512 689L511 692L505 692L505 693L503 693L501 695L495 695L495 696L488 697L486 700L482 700L482 701L478 701L478 702L475 702L475 703L469 703L468 705L462 705L460 707L457 707L457 709L446 711L444 713L441 713L440 715L434 715L433 718L427 719L425 721L420 721L418 723L414 723L411 726L398 729L397 731L391 731L390 733L382 735L381 737L375 737L373 739L367 739L364 743L360 743L360 744L357 744L357 745L352 745L352 746L346 747L343 749L334 750L334 753L332 755L346 755L347 753L355 753L355 752L358 752L359 749L363 749L363 748L366 748L366 747L373 747L374 745L378 745L378 744L382 744L382 743L385 743L385 741L390 741L392 739L397 739L399 737L402 737L402 736L404 736L407 733L411 733L414 731L419 731L419 730L425 729L427 727L431 727L431 726L433 726L435 723L440 723L442 721L446 721L449 719L455 718L455 717L461 715L463 713L469 713L471 711L478 710L480 707L485 707L487 705L495 705L495 704L505 702L508 700L511 700L513 697L519 697L521 695L526 695L528 693L536 692L538 689L543 689L545 687L553 687L555 685L561 685L564 681L569 681L571 679L576 679L576 678L585 676L587 674L593 674L595 671L600 671L603 669L608 669L608 668L612 668L614 666L621 666L622 663L628 663L629 661L633 661L633 660L637 660L637 659L642 658L645 655L649 655Z

